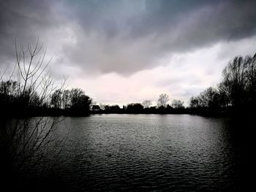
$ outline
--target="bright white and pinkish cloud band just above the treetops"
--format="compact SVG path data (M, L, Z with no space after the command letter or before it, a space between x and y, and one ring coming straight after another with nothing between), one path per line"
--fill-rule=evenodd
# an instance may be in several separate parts
M189 53L176 53L163 59L154 69L141 70L128 77L114 72L99 76L87 76L69 80L71 87L83 88L97 103L128 104L149 99L157 104L159 94L167 93L170 101L181 99L188 103L191 96L204 91L209 86L217 86L222 80L222 69L230 58L244 47L243 52L253 54L256 37L238 42L219 42L216 45ZM244 46L248 45L250 46ZM233 48L233 53L225 56L223 51ZM175 67L173 67L175 66Z

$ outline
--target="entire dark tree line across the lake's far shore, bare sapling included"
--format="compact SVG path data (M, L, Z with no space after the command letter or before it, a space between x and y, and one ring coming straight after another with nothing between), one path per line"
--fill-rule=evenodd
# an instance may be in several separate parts
M118 105L96 105L80 88L65 89L64 78L56 88L50 72L44 65L45 52L34 61L42 47L39 42L32 49L16 48L17 64L7 80L0 73L0 109L4 115L89 115L90 113L220 113L254 109L256 105L256 54L237 56L222 71L222 82L216 87L206 88L189 100L174 99L170 104L166 93L159 95L157 106L150 100L131 103L122 108ZM46 50L45 50L46 51ZM29 52L29 57L26 53ZM28 60L28 61L26 61Z

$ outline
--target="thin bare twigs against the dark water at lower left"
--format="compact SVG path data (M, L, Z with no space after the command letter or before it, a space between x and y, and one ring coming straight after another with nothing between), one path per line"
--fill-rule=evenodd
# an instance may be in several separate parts
M54 134L61 118L36 117L12 119L1 127L1 147L5 164L28 171L44 161L48 153L57 153L60 140Z

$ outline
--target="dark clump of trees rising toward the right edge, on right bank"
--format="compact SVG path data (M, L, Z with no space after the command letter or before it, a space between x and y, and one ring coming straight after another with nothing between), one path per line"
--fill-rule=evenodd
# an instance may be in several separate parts
M250 113L256 107L256 53L237 56L222 71L222 82L189 101L195 113Z

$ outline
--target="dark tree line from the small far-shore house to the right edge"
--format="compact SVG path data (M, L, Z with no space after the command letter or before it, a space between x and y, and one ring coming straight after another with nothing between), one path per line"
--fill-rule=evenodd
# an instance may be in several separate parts
M103 106L99 112L119 113L189 113L200 115L252 115L256 107L256 53L245 57L236 56L222 71L222 82L216 87L206 88L197 96L189 99L189 107L184 101L173 100L161 94L157 106L145 100L132 103L122 109L118 106Z

